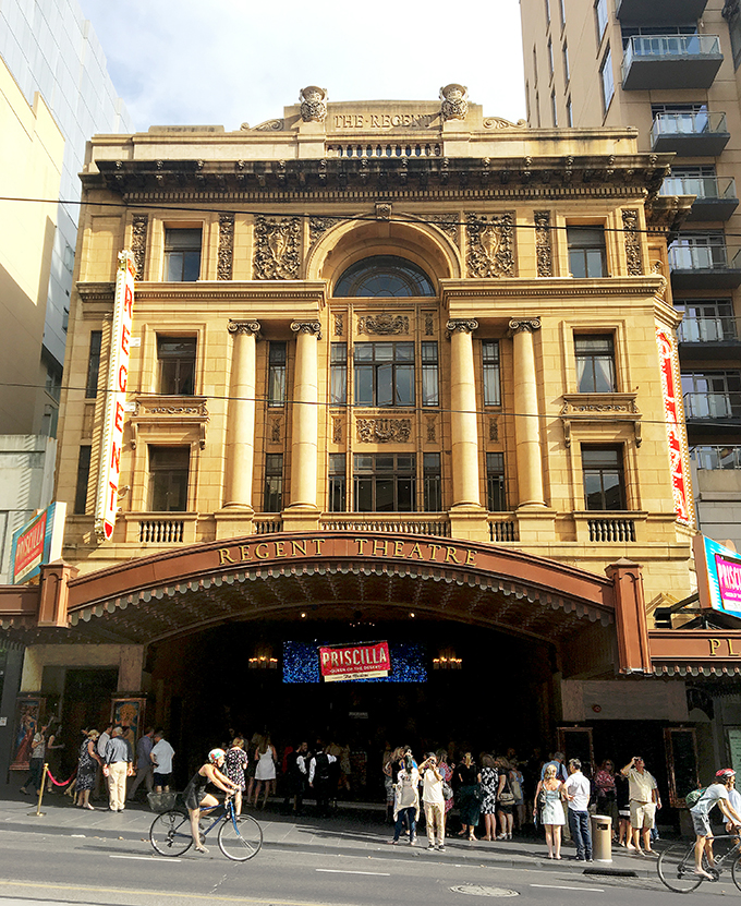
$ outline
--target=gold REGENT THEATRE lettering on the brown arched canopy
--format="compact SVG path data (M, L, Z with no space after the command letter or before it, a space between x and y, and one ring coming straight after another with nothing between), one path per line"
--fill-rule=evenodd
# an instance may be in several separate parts
M275 560L290 557L320 557L327 539L311 537L300 541L259 541L219 547L219 566L244 561ZM403 557L448 566L476 566L476 552L452 544L433 544L422 541L377 541L356 537L350 541L350 556Z

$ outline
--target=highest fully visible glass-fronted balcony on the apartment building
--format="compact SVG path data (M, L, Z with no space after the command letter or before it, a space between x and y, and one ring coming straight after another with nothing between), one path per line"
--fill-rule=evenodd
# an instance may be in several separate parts
M622 58L625 92L709 88L722 63L716 35L634 35Z

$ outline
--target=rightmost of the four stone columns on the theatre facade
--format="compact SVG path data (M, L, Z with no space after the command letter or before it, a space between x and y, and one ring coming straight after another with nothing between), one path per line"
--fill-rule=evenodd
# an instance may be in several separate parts
M514 338L514 442L520 507L545 507L533 346L533 333L540 329L540 318L513 318L509 328Z

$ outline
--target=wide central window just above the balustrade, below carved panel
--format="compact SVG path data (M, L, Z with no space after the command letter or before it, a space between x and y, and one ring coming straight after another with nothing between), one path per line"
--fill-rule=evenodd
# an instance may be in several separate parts
M414 512L416 457L413 454L355 454L356 512Z

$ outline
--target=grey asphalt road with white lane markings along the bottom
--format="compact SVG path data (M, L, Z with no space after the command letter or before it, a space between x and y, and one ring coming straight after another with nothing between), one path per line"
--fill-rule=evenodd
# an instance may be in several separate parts
M166 859L146 839L0 831L0 906L473 906L502 892L522 906L668 906L678 896L657 879L585 875L568 862L493 868L436 861L409 847L361 856L268 846L235 863L216 846L206 856ZM718 904L722 895L741 897L730 878L704 884L687 903Z

